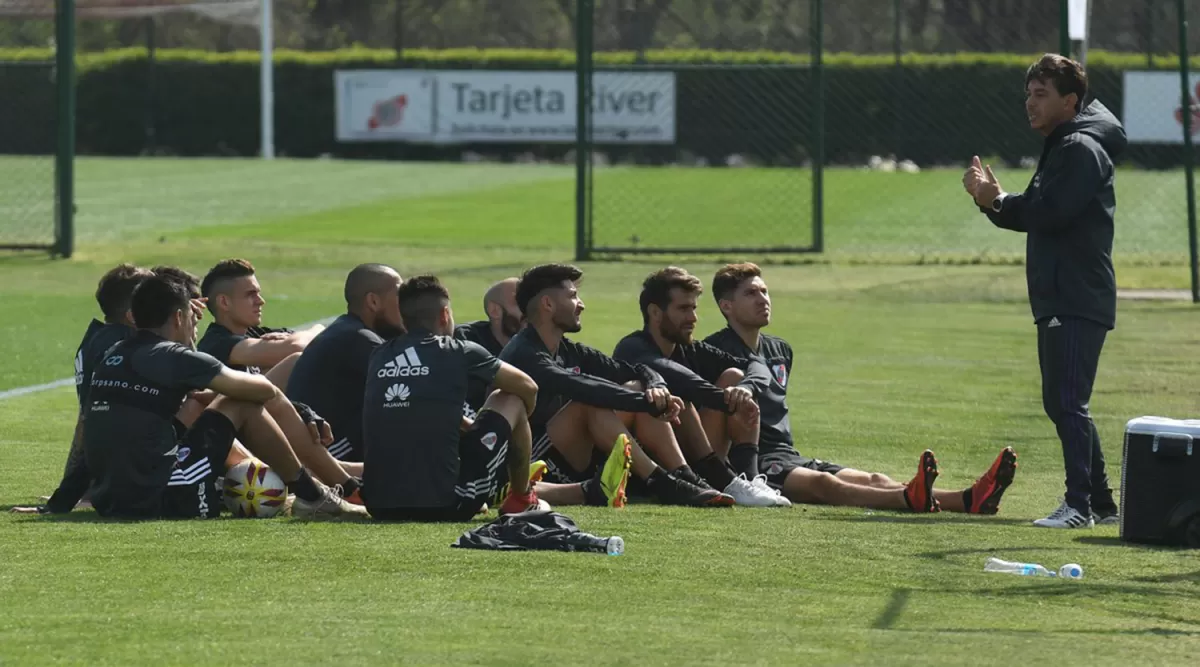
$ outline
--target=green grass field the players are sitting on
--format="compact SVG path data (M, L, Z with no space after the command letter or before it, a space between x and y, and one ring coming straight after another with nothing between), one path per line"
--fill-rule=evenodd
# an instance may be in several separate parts
M686 193L686 238L757 239L740 214L766 215L766 193L739 172L714 174L724 178L613 170L596 192ZM940 203L960 194L956 178L832 173L830 192L847 193L828 204L836 250L767 268L770 331L796 348L802 451L907 479L929 446L938 486L961 488L1013 445L1021 468L998 517L564 509L584 530L625 537L626 554L607 558L449 548L467 524L4 513L0 665L1194 665L1200 554L1122 545L1111 527L1028 525L1056 504L1062 462L1040 413L1024 269L859 263L1019 252L1016 235L959 199ZM570 179L553 167L80 161L78 256L0 254L0 391L71 374L95 281L121 260L202 272L251 258L274 325L341 312L346 271L386 262L443 275L458 318L472 319L492 281L570 258ZM1176 175L1122 179L1135 200L1174 192ZM1118 256L1122 287L1184 287L1174 199L1144 199L1144 215L1129 206L1118 222L1118 248L1132 248ZM835 211L859 232L835 224ZM629 229L613 238L658 233ZM686 265L706 281L714 269ZM586 264L578 338L611 349L637 328L638 283L653 268ZM1092 401L1114 464L1128 419L1196 416L1196 317L1190 305L1121 304ZM718 318L706 298L701 329ZM53 489L74 410L70 387L0 399L0 506ZM990 575L989 555L1086 573Z

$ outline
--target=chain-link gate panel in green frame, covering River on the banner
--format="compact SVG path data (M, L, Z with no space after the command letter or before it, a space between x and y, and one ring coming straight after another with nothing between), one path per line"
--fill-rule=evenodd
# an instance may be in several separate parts
M820 250L811 164L822 108L809 60L820 2L760 13L736 2L632 6L640 13L630 17L619 2L596 2L583 17L594 67L589 250ZM668 50L680 43L724 62ZM632 103L641 98L671 107ZM632 124L655 132L611 131Z

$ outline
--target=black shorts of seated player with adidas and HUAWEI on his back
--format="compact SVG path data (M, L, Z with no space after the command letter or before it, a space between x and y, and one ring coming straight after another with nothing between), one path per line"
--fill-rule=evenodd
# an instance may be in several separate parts
M470 521L498 488L508 483L505 465L512 427L504 415L484 410L470 429L458 438L457 501L449 507L372 507L367 511L379 521Z

